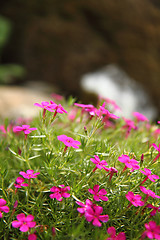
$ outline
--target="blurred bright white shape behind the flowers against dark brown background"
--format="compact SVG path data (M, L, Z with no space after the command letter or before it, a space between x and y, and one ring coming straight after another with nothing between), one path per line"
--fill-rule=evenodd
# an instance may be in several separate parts
M83 89L114 100L124 117L132 118L134 111L153 120L157 111L140 84L116 65L85 74L81 79Z

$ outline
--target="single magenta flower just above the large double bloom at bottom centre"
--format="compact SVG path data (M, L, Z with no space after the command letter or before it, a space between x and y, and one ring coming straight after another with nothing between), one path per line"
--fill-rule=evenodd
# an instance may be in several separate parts
M105 189L101 189L99 191L99 185L94 185L93 190L91 188L88 189L88 191L93 194L93 198L95 201L108 201L108 197L105 197L104 195L107 194L107 191Z

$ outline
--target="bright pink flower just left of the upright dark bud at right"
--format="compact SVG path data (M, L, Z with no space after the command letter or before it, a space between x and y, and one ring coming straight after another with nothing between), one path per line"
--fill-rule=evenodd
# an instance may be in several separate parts
M131 171L138 170L140 168L138 162L135 159L130 159L127 155L122 155L118 158L118 160L125 164L123 171L127 168L131 168Z

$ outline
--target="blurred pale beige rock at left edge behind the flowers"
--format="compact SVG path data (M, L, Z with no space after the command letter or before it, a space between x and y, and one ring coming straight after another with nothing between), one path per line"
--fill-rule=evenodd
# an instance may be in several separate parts
M0 117L30 119L39 114L34 103L53 100L44 90L30 87L0 86Z

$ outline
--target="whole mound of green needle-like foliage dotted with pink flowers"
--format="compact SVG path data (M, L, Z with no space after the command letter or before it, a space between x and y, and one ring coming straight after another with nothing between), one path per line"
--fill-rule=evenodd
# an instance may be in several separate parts
M54 101L0 126L1 239L160 239L159 125Z

